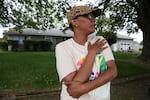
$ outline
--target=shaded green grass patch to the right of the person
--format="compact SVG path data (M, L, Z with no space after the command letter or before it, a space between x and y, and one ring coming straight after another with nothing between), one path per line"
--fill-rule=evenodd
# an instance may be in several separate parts
M117 78L130 77L150 73L150 63L141 61L139 53L114 53L118 76Z

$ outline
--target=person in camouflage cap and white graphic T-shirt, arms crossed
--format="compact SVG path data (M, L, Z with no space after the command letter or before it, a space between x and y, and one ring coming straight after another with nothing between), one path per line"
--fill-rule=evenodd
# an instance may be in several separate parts
M68 13L73 38L56 45L56 67L61 100L110 100L110 81L117 76L112 51L95 32L99 8L75 6Z

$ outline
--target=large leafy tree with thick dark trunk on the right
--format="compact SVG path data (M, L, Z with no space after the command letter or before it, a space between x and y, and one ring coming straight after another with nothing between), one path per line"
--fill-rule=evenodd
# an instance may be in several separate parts
M150 1L149 0L102 0L104 14L109 13L113 30L126 29L128 33L143 32L141 58L150 60Z

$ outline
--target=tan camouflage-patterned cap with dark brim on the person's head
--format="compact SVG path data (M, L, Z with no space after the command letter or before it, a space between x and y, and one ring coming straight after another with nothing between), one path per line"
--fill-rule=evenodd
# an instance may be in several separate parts
M87 6L75 6L68 13L68 23L70 24L71 20L80 15L85 15L88 13L92 13L95 17L100 16L101 10L99 8L90 9Z

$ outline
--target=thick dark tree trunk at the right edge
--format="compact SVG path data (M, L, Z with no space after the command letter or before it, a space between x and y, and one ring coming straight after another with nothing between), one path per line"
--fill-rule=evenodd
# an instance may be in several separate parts
M138 0L138 26L143 31L143 50L141 57L150 60L150 0Z

